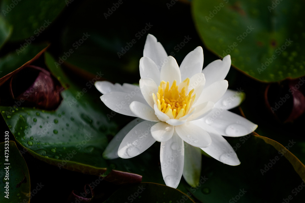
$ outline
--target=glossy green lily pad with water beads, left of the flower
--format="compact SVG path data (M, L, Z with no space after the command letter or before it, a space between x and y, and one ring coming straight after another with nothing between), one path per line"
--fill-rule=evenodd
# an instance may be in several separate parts
M47 163L82 173L104 173L108 164L101 154L115 124L101 114L101 105L95 105L99 95L86 93L89 87L77 89L48 54L46 65L64 87L69 85L61 93L62 103L56 111L0 107L7 125L17 142Z

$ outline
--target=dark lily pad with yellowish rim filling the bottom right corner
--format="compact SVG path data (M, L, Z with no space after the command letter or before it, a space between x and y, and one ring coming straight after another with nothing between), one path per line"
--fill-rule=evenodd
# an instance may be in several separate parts
M278 152L283 149L279 143L262 138L253 135L229 138L241 164L229 166L203 156L199 187L190 187L186 183L185 187L201 202L282 202L289 195L293 202L302 202L305 190L296 192L294 188L304 184L301 178L304 165L288 150L286 154L291 156L287 156L288 159ZM302 171L301 177L294 167Z

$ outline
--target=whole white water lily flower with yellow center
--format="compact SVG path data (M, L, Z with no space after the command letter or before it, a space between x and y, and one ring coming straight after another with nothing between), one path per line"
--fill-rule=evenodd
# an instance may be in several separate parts
M228 81L224 80L230 66L228 55L202 70L203 50L197 47L179 67L149 34L140 59L139 87L107 81L95 83L107 107L138 117L113 138L103 156L132 158L154 142L161 142L162 176L165 184L174 188L182 175L189 184L196 184L192 180L200 176L199 148L225 164L239 165L235 151L222 135L244 136L257 125L228 111L242 101L238 96L242 94L228 90Z

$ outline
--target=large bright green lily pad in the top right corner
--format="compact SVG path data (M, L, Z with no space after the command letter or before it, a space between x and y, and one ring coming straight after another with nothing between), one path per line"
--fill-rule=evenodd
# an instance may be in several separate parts
M215 54L231 55L232 65L264 82L305 75L305 2L192 2L203 42ZM263 64L263 65L262 65Z

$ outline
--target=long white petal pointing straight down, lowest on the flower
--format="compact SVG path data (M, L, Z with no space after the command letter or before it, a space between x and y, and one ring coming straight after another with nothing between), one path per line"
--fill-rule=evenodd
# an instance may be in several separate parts
M161 142L160 163L165 184L177 188L183 173L184 145L175 132L170 140Z

